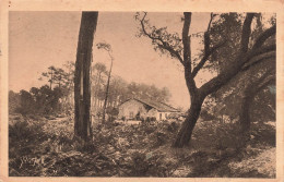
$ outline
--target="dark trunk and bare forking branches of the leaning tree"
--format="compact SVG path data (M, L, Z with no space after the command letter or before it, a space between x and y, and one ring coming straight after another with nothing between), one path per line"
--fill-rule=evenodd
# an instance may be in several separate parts
M218 43L211 41L211 24L214 19L213 13L211 13L211 19L208 24L208 28L203 34L203 50L200 53L200 59L197 61L192 59L191 56L191 36L189 35L189 29L191 25L191 12L184 12L184 27L181 32L181 38L178 34L170 34L167 32L166 27L156 28L151 26L149 20L146 19L147 13L137 13L135 20L140 23L140 35L145 36L152 40L152 45L155 50L159 50L162 53L169 53L170 57L177 59L184 66L186 85L190 95L190 109L188 116L182 123L173 147L184 147L189 143L191 138L192 131L199 119L202 104L206 96L215 93L223 85L228 83L234 76L236 76L252 59L255 62L262 60L265 57L271 58L271 52L275 51L275 41L267 45L265 41L275 35L276 26L273 25L260 34L253 45L251 41L251 24L256 13L247 13L241 24L240 40L237 41L237 51L230 57L227 57L226 69L222 70L215 77L211 78L202 86L198 87L196 83L196 77L198 73L204 68L208 60L213 53L221 51L222 48L226 47L227 40L221 40ZM230 38L230 37L228 37ZM228 49L229 47L226 47ZM258 59L261 57L261 59Z

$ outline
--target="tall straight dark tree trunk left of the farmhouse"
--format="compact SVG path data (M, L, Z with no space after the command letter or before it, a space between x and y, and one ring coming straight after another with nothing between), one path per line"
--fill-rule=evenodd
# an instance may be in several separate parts
M91 131L91 85L90 68L92 47L96 31L98 12L83 12L79 33L75 75L74 75L74 102L75 102L75 136L87 141Z

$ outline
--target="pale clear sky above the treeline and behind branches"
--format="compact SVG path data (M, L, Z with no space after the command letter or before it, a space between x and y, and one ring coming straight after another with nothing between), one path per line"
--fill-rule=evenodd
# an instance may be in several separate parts
M137 37L139 23L135 12L99 12L94 37L93 64L110 63L106 51L96 49L97 43L111 45L113 74L127 82L154 84L167 87L170 104L188 108L190 97L182 66L178 60L159 54L146 37ZM167 26L168 32L181 34L182 13L150 12L150 23L156 27ZM193 13L190 34L204 32L209 13ZM50 65L62 66L75 61L81 12L16 12L9 14L9 89L29 90L33 86L47 84L38 81ZM200 40L192 40L192 54L199 53ZM205 73L204 73L205 74ZM206 77L201 74L197 81Z

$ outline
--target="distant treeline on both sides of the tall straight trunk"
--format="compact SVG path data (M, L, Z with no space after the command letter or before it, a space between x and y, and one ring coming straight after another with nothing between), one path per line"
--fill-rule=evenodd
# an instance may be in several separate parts
M91 72L91 110L93 116L103 114L106 97L108 70L104 63L95 63ZM42 73L39 81L46 84L42 87L32 87L20 93L9 92L9 110L22 114L70 114L74 109L74 63L68 62L63 68L49 66ZM128 83L117 75L113 75L109 84L106 113L117 114L117 107L128 98L140 98L168 102L168 88L157 88L131 82Z

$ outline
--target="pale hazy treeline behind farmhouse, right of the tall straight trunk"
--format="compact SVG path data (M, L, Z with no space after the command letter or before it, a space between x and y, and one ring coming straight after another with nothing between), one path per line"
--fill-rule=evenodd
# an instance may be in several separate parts
M92 66L92 111L100 113L106 96L108 70L104 63L95 63ZM140 98L158 102L168 102L170 93L167 87L157 88L155 85L147 85L131 82L128 83L117 75L113 75L109 85L107 108L117 108L119 104L128 98Z

